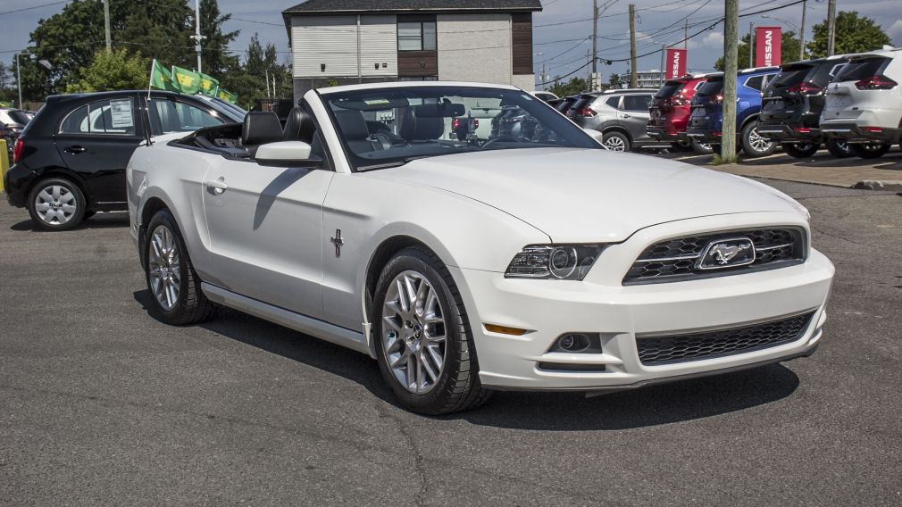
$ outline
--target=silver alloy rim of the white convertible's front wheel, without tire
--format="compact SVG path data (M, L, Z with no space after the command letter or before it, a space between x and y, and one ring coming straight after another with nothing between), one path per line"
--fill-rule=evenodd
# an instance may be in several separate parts
M445 366L445 311L437 291L419 272L401 272L382 305L382 350L395 379L409 392L436 386Z

